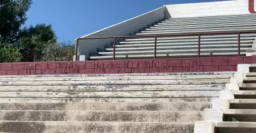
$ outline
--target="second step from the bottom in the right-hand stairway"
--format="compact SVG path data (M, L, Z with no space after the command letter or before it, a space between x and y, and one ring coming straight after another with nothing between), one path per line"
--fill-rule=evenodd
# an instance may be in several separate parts
M225 122L256 122L256 109L228 109Z

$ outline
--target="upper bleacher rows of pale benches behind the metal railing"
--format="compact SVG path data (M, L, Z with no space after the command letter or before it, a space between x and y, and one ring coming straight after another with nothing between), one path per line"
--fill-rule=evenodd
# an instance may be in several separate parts
M256 30L256 15L167 18L135 35L179 34L193 32ZM237 55L237 34L201 36L202 57ZM241 34L241 55L252 48L256 34ZM124 39L116 45L116 59L150 59L154 57L154 38ZM253 46L254 47L254 46ZM198 36L157 38L157 58L197 57ZM91 56L91 60L113 58L113 46Z

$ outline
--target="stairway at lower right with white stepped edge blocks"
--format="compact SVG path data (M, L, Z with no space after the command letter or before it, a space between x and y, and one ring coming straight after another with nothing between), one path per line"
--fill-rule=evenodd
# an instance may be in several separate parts
M196 122L195 133L256 132L256 65L239 67L212 109L205 109L205 121Z

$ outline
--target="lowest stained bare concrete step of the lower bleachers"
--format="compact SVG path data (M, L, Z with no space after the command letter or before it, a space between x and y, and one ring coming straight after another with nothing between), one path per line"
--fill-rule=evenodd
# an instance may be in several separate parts
M193 133L193 123L140 122L0 122L0 132L19 133Z

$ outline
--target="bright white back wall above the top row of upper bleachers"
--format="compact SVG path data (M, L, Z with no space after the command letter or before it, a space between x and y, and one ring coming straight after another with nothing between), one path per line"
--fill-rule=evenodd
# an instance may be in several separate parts
M166 17L180 18L250 14L248 3L249 0L232 0L209 3L170 4L166 5Z

